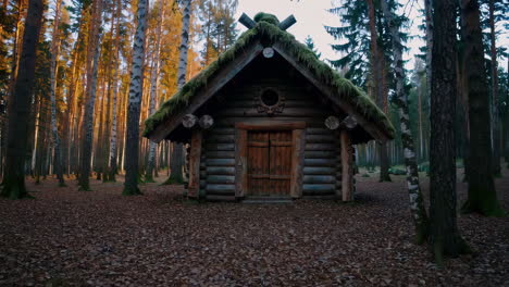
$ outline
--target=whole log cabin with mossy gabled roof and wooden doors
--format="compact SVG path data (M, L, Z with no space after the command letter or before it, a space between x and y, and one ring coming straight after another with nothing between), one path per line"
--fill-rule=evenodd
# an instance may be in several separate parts
M352 200L352 145L393 138L373 101L260 13L219 60L146 121L145 136L189 144L188 197Z

